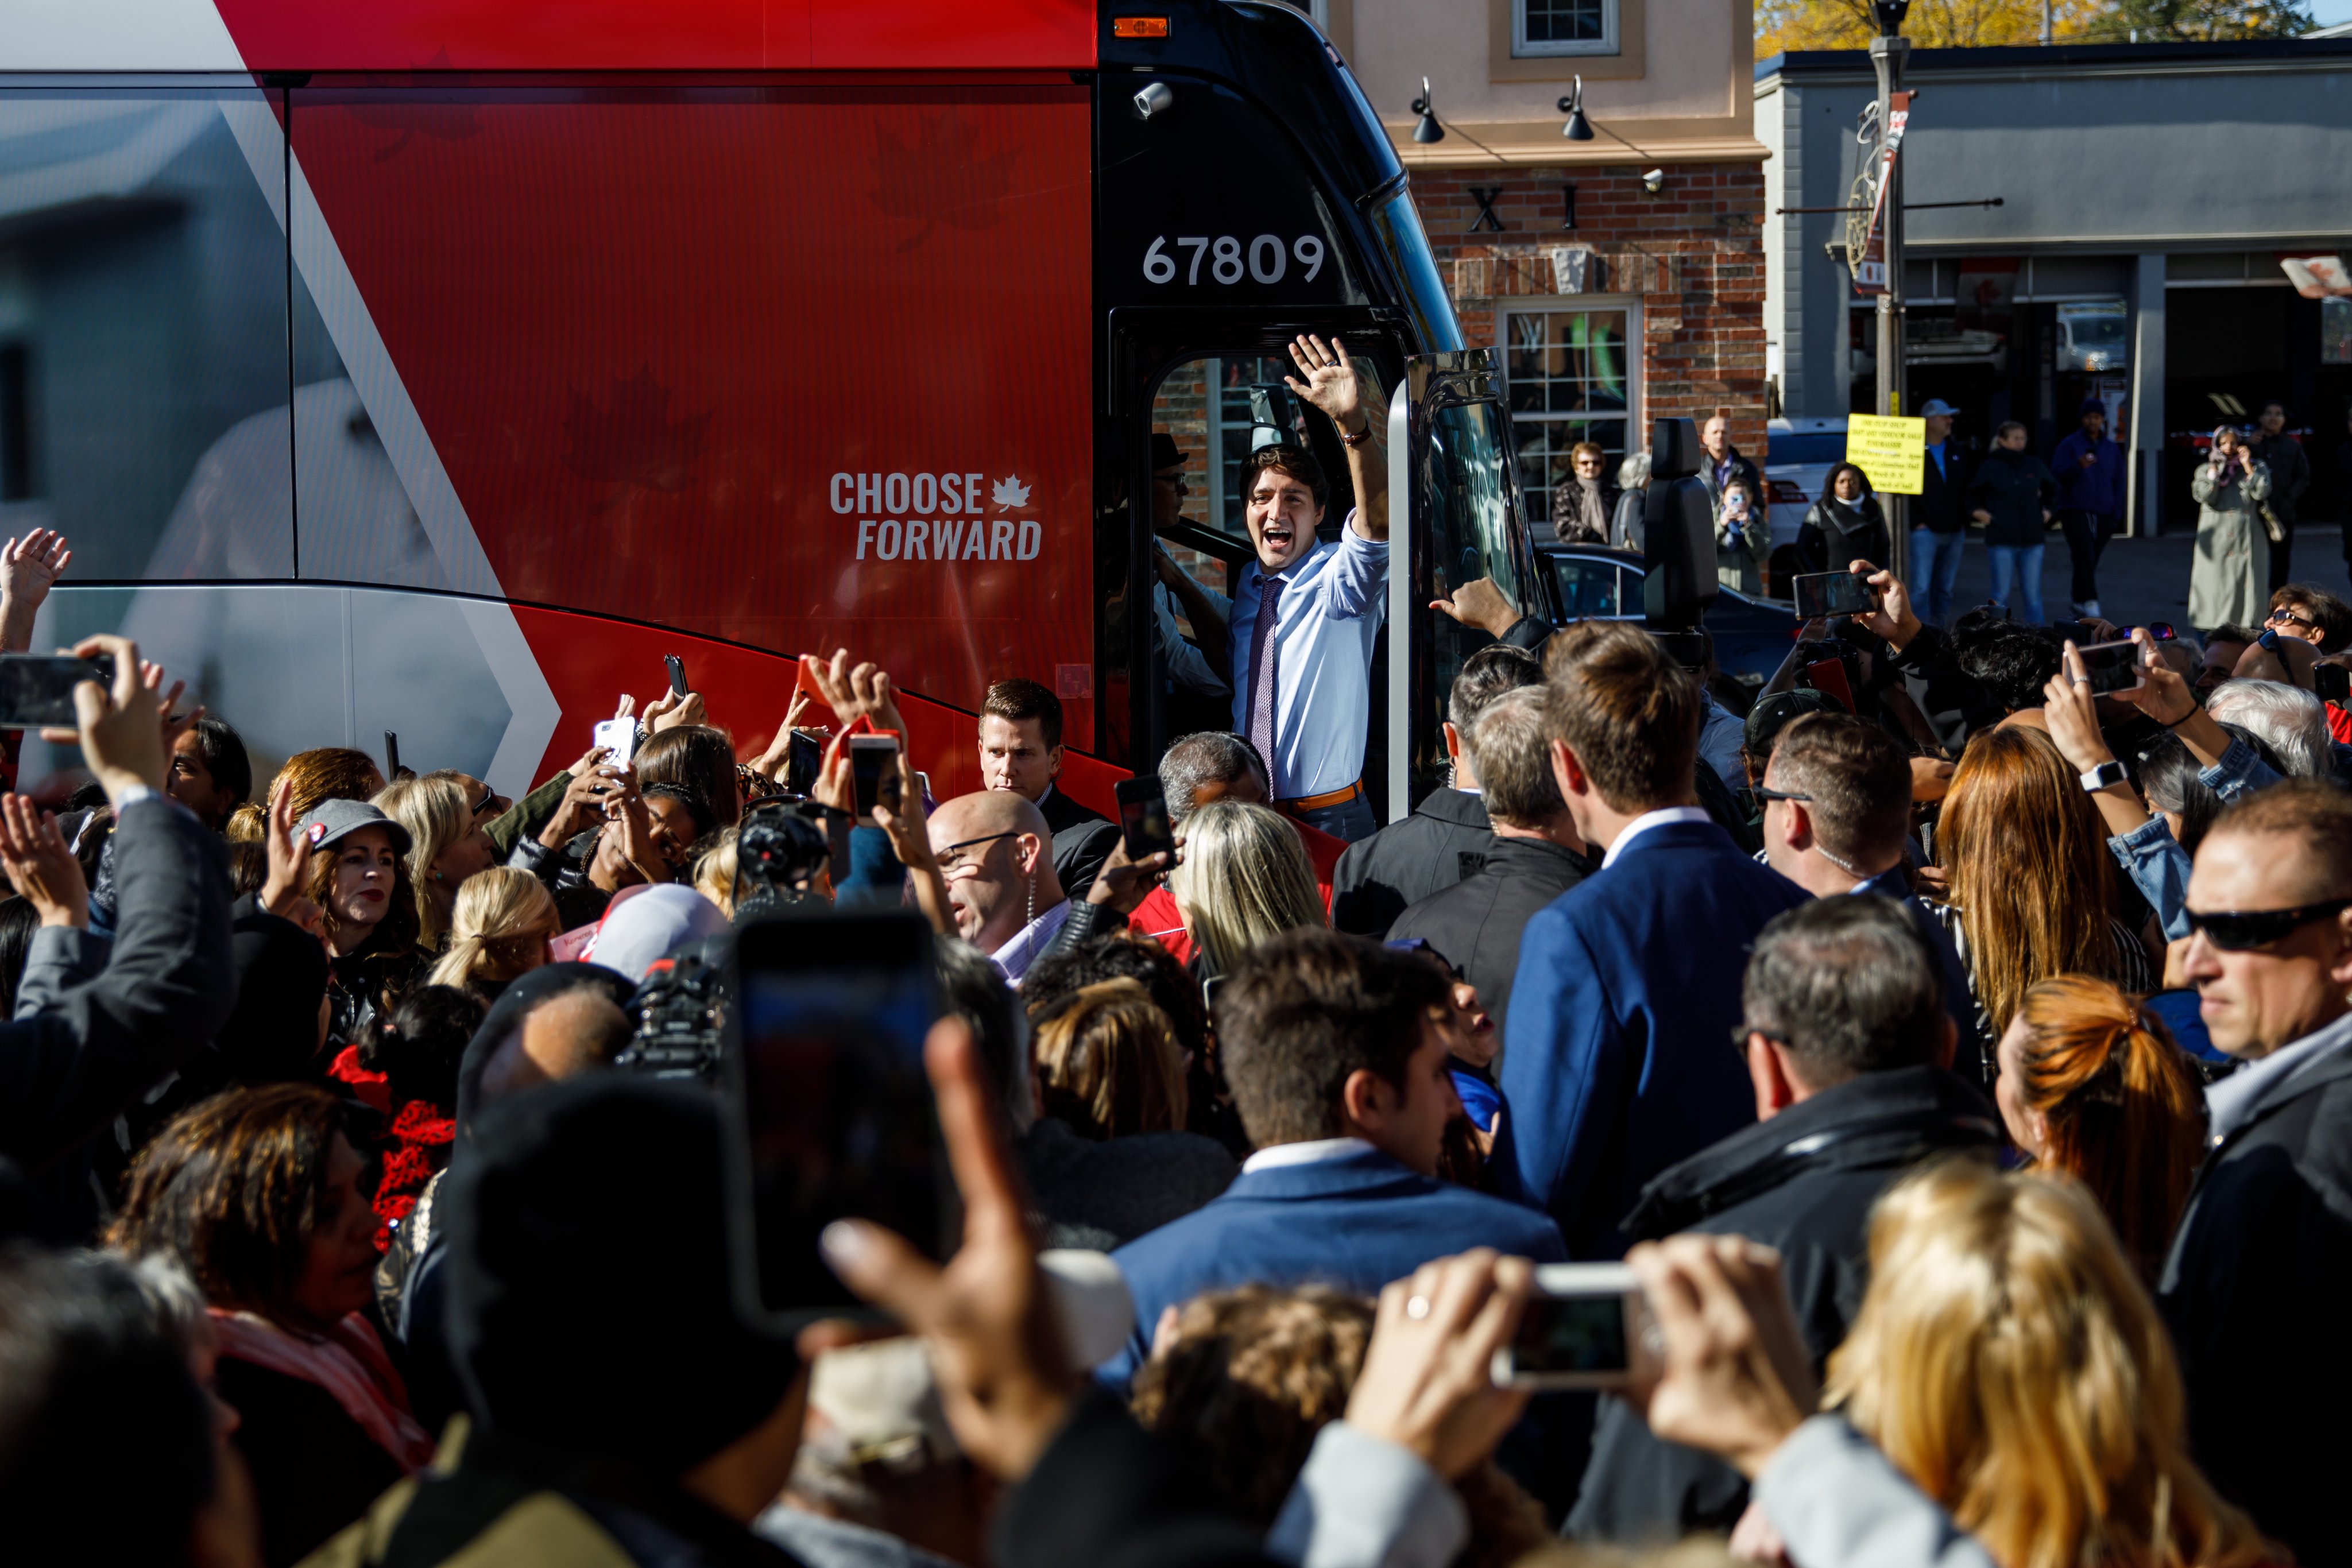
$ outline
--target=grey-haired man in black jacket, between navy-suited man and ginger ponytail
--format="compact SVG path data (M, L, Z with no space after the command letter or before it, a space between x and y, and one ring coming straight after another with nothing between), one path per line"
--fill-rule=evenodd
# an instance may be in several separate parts
M1820 1363L1860 1309L1879 1192L1931 1154L1992 1154L1999 1119L1945 1070L1957 1034L1940 966L1886 898L1820 898L1773 919L1740 999L1759 1121L1661 1171L1625 1234L1700 1229L1778 1248ZM1729 1530L1745 1507L1748 1483L1729 1465L1602 1401L1571 1535L1672 1542Z

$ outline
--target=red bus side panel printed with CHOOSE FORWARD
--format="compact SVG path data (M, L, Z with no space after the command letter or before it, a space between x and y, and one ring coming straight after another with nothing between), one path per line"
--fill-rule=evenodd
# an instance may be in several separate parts
M964 710L1028 675L1089 748L1087 120L1077 87L303 89L358 299L306 284L346 362L365 308L506 597L847 644ZM557 689L581 658L534 651Z

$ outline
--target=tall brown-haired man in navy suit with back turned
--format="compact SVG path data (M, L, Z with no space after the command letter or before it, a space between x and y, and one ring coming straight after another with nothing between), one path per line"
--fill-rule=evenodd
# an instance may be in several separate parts
M1545 649L1552 773L1602 870L1526 922L1489 1168L1559 1220L1576 1258L1621 1258L1618 1220L1677 1159L1755 1121L1731 1056L1748 943L1806 891L1691 804L1698 682L1623 621Z

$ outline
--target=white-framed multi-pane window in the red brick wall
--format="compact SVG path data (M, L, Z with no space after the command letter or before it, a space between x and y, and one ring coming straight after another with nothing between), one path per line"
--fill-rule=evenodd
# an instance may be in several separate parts
M1503 343L1510 430L1534 524L1552 515L1552 487L1571 477L1576 442L1597 442L1602 475L1616 482L1639 404L1632 306L1510 310Z

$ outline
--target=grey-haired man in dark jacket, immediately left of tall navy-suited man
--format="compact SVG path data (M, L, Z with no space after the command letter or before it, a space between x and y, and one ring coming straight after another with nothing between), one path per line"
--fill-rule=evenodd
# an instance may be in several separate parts
M1418 936L1477 987L1496 1034L1510 1025L1519 936L1536 910L1585 879L1588 851L1552 780L1543 686L1505 691L1470 731L1494 844L1486 865L1397 917L1388 940Z

